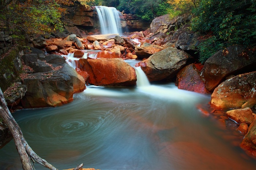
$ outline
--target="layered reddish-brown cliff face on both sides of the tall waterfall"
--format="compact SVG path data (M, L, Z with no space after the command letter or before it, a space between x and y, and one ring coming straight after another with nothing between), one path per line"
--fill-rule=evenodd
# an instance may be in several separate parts
M65 17L71 21L71 24L79 28L85 28L86 30L99 29L98 15L97 12L94 10L94 7L76 7ZM120 18L121 27L124 31L127 32L144 31L150 27L151 23L148 21L143 21L142 19L132 14L120 13Z

